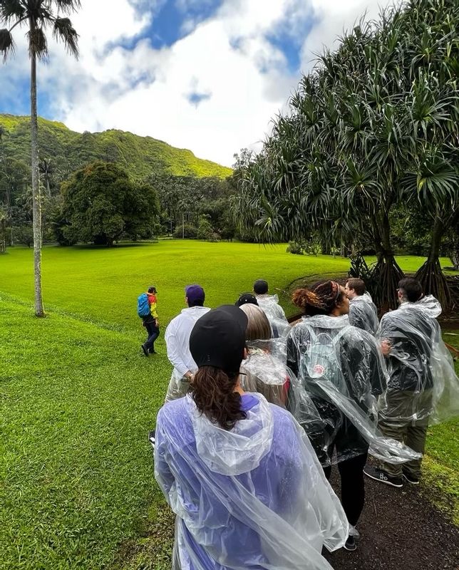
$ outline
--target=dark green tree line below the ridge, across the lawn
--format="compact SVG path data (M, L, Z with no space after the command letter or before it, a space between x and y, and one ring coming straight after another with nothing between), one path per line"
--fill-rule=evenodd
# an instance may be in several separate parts
M236 191L231 177L152 173L135 179L115 162L91 162L71 173L53 159L41 158L39 165L43 242L110 246L161 236L239 237L230 208ZM0 147L2 251L14 244L31 247L32 219L30 167Z

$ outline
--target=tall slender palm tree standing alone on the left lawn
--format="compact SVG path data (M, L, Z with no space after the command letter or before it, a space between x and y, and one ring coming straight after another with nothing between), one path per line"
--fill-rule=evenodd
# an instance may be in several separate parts
M78 34L70 19L61 17L80 8L80 0L1 0L0 20L7 28L0 29L0 52L4 58L14 52L12 31L16 26L26 26L31 60L31 170L33 197L33 268L35 281L35 314L45 316L41 296L41 199L38 172L38 118L36 105L36 62L48 55L46 28L52 28L53 36L63 41L69 53L78 57Z

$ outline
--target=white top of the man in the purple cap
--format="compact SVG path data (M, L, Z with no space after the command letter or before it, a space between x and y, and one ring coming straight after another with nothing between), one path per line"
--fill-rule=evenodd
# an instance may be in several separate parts
M187 307L167 325L165 341L167 358L174 367L172 376L182 378L187 371L197 370L190 353L190 334L198 318L210 311L208 307Z

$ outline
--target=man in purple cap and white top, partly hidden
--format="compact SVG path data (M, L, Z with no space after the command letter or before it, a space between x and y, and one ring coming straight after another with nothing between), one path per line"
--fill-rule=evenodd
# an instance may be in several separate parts
M167 387L166 402L181 398L187 393L190 379L197 370L190 353L190 334L198 318L210 311L204 306L205 292L200 285L185 287L186 309L172 318L165 331L167 358L174 367Z

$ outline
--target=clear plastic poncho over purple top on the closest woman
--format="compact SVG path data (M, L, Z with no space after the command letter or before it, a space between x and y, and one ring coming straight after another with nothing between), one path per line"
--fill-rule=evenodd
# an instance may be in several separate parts
M155 477L177 515L173 570L331 570L349 525L304 430L262 395L223 430L190 395L163 406Z

